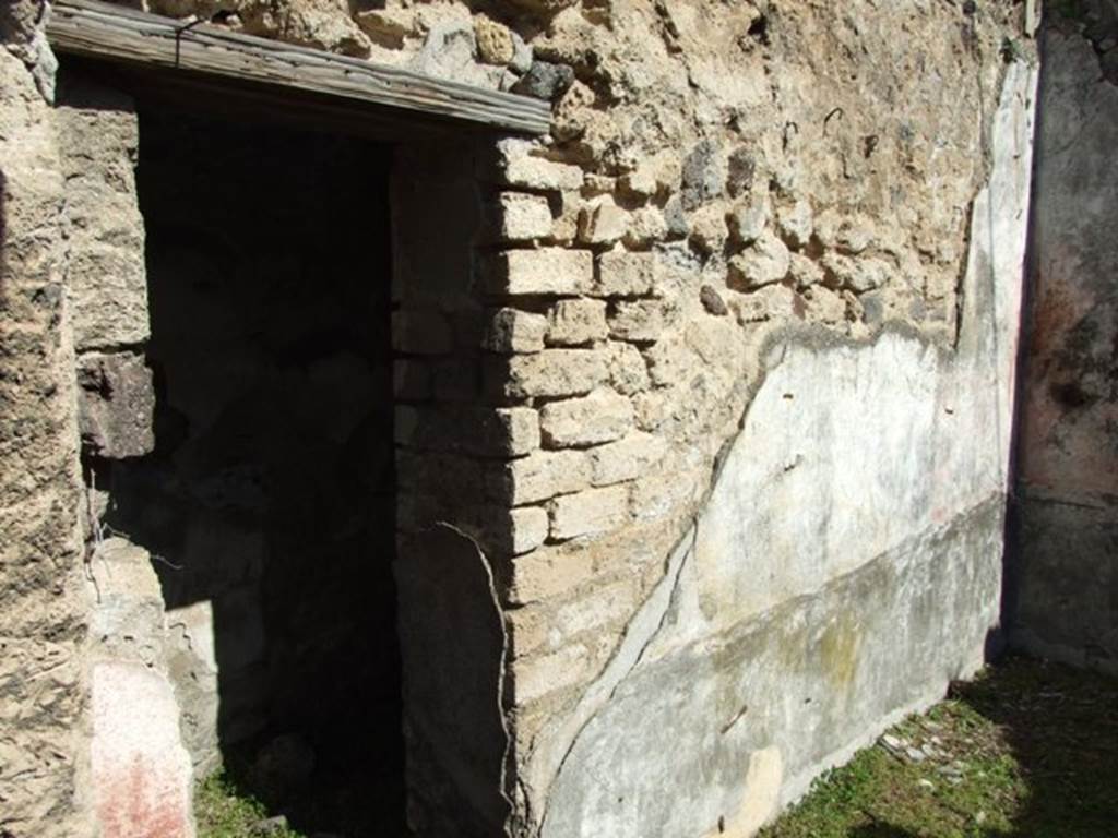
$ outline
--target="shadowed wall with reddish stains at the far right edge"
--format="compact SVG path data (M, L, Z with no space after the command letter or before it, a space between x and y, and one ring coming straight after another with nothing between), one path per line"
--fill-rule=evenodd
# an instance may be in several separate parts
M1118 3L1043 38L1013 639L1118 672Z

